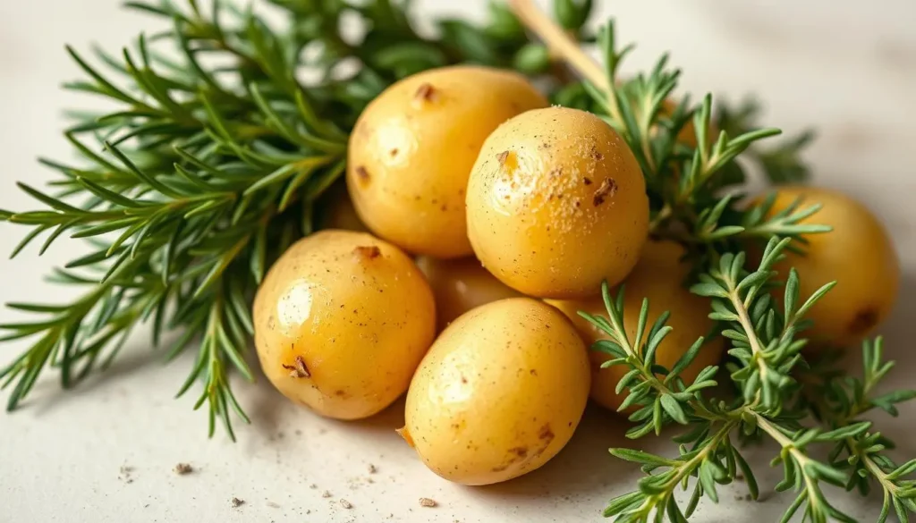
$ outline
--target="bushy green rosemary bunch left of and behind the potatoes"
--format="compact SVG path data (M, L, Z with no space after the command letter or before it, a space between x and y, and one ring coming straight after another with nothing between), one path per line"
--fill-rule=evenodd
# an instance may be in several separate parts
M84 288L82 297L14 304L38 316L2 326L6 340L35 340L0 369L12 387L7 409L45 368L71 387L98 362L107 366L127 333L150 321L155 343L179 333L169 359L196 348L179 394L201 382L196 407L207 406L210 434L219 418L234 438L231 413L247 418L227 376L252 378L251 297L276 256L320 223L322 195L344 172L348 133L365 104L403 76L450 63L552 74L543 46L501 3L481 26L441 20L436 38L420 37L388 0L270 3L285 25L219 0L209 9L132 0L128 8L167 28L117 56L94 49L98 67L68 48L84 78L65 87L113 108L76 114L65 136L80 161L42 159L58 178L47 189L20 184L38 210L0 210L0 220L31 227L14 256L42 234L39 254L64 235L89 239L93 252L58 273ZM571 28L591 12L576 2L558 9ZM362 40L340 34L344 16L365 24ZM322 51L306 58L310 45Z

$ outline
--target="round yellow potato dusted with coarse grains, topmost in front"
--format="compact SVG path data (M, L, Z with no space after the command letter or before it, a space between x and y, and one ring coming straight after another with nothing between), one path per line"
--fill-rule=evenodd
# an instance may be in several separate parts
M636 264L649 199L636 158L594 114L535 109L486 139L467 191L474 253L529 296L583 298Z

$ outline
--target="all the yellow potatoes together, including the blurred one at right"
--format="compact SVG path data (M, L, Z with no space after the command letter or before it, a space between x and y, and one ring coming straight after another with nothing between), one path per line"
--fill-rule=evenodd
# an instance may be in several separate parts
M689 137L689 136L688 136ZM620 366L589 352L602 281L625 283L635 336L671 311L668 368L714 329L682 282L681 245L649 239L637 160L593 114L551 107L522 76L484 67L425 71L392 85L350 139L346 194L327 227L279 258L257 292L256 348L289 399L361 419L407 391L403 438L436 474L485 485L560 452L588 398L617 409ZM807 194L834 226L797 267L802 294L840 283L812 310L820 343L851 343L888 313L899 278L887 234L864 207ZM351 203L352 202L352 203ZM351 206L352 205L352 206ZM855 254L855 256L850 256ZM715 365L711 336L684 373Z

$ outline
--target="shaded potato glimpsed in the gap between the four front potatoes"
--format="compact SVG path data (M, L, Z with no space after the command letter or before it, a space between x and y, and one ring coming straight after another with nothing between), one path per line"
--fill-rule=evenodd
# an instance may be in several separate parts
M452 260L420 256L417 267L430 282L432 294L436 297L440 331L474 307L521 296L496 279L473 256Z

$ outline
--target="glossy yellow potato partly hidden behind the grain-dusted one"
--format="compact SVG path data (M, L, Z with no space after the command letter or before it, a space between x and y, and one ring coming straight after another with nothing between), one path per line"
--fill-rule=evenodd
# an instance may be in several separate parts
M476 66L424 71L390 86L350 136L347 187L382 238L414 254L467 256L464 192L486 136L548 104L521 75Z

